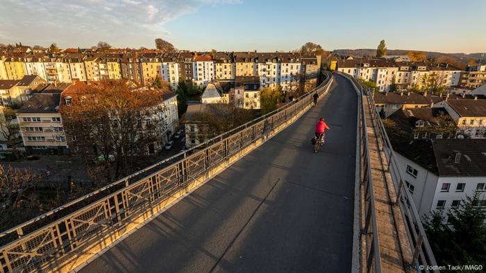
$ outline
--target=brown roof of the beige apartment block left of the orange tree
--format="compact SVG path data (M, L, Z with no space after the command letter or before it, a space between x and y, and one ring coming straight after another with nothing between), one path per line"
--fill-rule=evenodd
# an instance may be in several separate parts
M20 113L56 113L60 94L40 93L29 98L19 109Z

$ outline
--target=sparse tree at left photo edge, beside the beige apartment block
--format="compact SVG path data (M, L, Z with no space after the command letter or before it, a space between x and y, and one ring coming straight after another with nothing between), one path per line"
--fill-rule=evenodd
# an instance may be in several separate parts
M19 137L19 123L15 116L15 109L8 106L0 107L0 135L5 139L7 148L13 150L15 157L19 157L16 141Z

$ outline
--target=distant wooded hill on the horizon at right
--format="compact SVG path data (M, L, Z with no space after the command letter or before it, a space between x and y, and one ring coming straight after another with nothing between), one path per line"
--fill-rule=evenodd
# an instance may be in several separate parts
M403 49L388 49L387 55L407 55L410 50ZM457 64L461 64L461 67L466 67L469 59L474 59L476 61L481 60L481 63L486 63L486 53L442 53L433 51L422 51L426 53L426 56L430 60L438 60L441 57L453 58ZM333 51L335 55L351 55L353 57L361 56L375 56L376 49L335 49ZM484 55L484 57L483 57Z

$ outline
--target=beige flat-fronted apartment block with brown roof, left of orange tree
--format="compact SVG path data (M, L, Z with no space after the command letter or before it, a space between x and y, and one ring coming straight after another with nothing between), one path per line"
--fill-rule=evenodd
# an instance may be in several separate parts
M64 155L68 152L66 134L59 112L61 93L69 85L50 85L35 94L17 112L26 152Z

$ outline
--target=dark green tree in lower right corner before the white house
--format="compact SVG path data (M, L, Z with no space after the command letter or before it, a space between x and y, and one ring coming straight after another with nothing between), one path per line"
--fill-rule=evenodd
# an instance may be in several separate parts
M476 191L449 212L436 210L424 217L424 229L437 264L483 264L486 257L486 211L480 206L482 200L483 197Z

